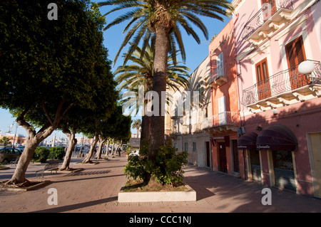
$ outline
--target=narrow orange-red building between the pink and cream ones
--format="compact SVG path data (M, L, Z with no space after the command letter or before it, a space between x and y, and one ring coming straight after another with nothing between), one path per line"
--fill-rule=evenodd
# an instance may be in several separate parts
M231 19L209 46L213 115L206 130L212 135L213 170L240 176L243 157L238 152L240 107L234 38Z

